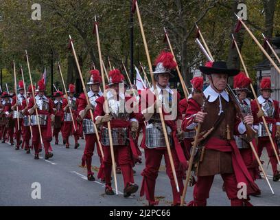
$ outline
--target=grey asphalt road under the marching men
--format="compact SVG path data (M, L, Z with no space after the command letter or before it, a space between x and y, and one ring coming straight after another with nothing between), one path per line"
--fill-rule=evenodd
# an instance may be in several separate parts
M93 155L93 171L96 181L88 181L86 168L81 166L84 151L84 140L79 140L80 147L74 149L73 138L70 138L70 148L65 148L51 142L54 157L45 160L44 153L35 160L34 155L26 154L22 149L14 150L8 143L0 143L0 206L147 206L145 197L135 195L124 198L124 184L122 175L117 174L118 195L105 195L104 183L97 179L97 170L100 166L96 149ZM267 153L264 150L264 170L275 192L272 195L266 180L258 179L257 185L261 189L261 197L251 197L254 206L279 206L280 181L272 181L271 166L268 164ZM145 158L142 155L142 164L135 166L135 183L141 186L141 171L144 168ZM32 185L35 183L35 186ZM36 184L37 183L37 184ZM40 186L40 188L39 188ZM115 189L115 185L112 182ZM40 189L40 193L39 192ZM186 201L192 199L193 188L188 188ZM34 194L37 198L34 198ZM171 206L172 189L170 179L165 173L164 159L156 180L156 199L159 206ZM38 198L39 197L39 198ZM207 200L208 206L230 206L226 193L222 191L222 178L216 175Z

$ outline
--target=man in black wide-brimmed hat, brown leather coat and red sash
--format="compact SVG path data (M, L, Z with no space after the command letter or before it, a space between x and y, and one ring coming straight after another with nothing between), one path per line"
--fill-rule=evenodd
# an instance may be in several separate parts
M244 116L242 122L237 118L234 96L226 93L230 76L239 73L237 69L228 69L224 61L208 62L200 67L207 74L210 85L203 92L204 98L190 98L186 116L182 123L184 131L191 131L201 124L200 142L196 164L197 181L194 186L194 201L189 206L206 206L209 191L215 175L224 180L226 195L231 206L251 206L249 195L259 191L240 155L233 134L240 135L246 126L253 125L253 116ZM248 134L248 133L247 133ZM251 137L253 138L253 137ZM238 196L238 184L246 184L246 195Z

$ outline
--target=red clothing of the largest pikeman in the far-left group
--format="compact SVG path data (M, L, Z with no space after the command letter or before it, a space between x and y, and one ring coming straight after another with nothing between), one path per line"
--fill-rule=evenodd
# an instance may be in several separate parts
M40 126L46 154L49 153L49 150L51 148L50 142L52 140L50 115L54 115L54 103L50 98L47 98L47 100L49 101L49 111L38 109L39 115L47 115L47 125ZM31 109L33 106L34 106L34 99L32 98L28 103L28 109ZM33 115L36 115L36 111L34 111ZM38 125L32 126L32 135L33 135L32 142L34 144L35 154L38 154L38 149L40 148L40 134L39 134Z

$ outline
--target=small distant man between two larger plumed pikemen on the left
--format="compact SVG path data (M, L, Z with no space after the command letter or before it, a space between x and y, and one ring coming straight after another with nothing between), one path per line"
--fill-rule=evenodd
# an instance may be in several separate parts
M63 94L61 91L56 91L54 92L54 113L55 113L55 118L54 118L54 131L53 135L56 138L55 144L58 144L58 133L62 130L62 119L64 115L64 111L62 108L62 100Z

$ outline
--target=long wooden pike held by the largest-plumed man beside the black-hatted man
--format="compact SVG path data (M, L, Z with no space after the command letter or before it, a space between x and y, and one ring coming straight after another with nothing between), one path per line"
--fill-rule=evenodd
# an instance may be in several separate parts
M159 94L158 94L158 91L156 89L156 82L154 81L154 73L152 71L152 63L151 63L151 59L150 59L150 54L149 54L149 50L148 50L147 41L145 39L145 32L144 32L144 29L143 29L141 14L140 14L140 10L139 10L137 0L135 0L133 3L134 3L134 6L137 10L137 17L138 17L138 21L139 21L139 25L140 25L140 29L141 29L143 43L144 43L144 46L145 46L145 54L146 54L147 59L148 59L148 65L149 65L150 74L151 74L151 78L152 78L152 85L154 87L154 92L155 92L155 95L156 95L156 103L157 103L157 100L159 100ZM170 159L170 164L171 164L171 168L172 168L172 175L174 177L174 181L175 181L175 184L176 184L176 190L177 190L177 192L180 192L179 186L178 186L178 179L177 179L175 166L174 166L174 160L173 160L171 149L170 149L170 142L168 140L168 135L167 135L167 131L166 131L166 126L165 126L165 121L164 121L164 118L163 118L163 111L162 111L161 106L159 106L159 115L161 117L161 124L163 126L163 134L164 134L164 137L165 137L165 143L166 143L166 146L167 146L167 153L168 153L168 157Z

